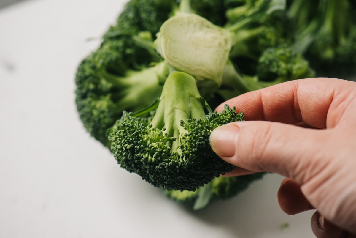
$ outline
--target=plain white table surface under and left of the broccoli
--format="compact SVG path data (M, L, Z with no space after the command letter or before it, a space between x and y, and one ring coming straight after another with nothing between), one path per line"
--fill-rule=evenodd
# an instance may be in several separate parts
M0 237L314 237L314 211L279 209L279 175L193 212L90 138L74 74L123 4L31 0L0 10Z

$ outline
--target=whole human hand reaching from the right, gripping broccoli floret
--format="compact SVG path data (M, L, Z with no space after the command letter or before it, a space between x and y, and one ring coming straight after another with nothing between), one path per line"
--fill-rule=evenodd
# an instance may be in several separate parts
M213 150L237 166L228 176L262 171L286 176L277 196L284 212L315 208L316 237L355 238L356 82L300 79L226 104L247 120L211 133Z

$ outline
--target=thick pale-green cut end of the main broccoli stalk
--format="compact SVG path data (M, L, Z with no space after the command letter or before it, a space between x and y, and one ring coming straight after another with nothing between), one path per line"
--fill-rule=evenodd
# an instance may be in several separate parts
M156 40L158 52L175 69L221 85L231 48L229 31L196 14L182 13L163 23Z

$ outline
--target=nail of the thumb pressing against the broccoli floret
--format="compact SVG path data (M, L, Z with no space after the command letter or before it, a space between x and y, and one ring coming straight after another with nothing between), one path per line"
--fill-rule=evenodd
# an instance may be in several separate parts
M235 145L240 128L234 124L216 128L210 135L210 146L220 157L235 155Z

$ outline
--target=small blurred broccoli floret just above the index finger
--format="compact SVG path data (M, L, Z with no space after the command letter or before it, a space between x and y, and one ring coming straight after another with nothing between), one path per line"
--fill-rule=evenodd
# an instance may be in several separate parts
M256 68L255 75L250 76L242 74L231 62L227 63L218 93L228 100L242 93L315 75L309 62L292 46L285 45L263 51Z

